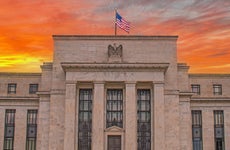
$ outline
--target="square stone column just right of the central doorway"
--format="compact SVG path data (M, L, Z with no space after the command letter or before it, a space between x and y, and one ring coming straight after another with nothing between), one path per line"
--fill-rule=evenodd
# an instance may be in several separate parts
M125 84L125 150L137 149L137 101L135 82Z

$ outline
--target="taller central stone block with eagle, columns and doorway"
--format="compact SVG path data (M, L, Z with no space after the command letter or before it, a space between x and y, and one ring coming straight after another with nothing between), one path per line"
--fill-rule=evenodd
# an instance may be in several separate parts
M177 36L53 38L49 149L179 149Z

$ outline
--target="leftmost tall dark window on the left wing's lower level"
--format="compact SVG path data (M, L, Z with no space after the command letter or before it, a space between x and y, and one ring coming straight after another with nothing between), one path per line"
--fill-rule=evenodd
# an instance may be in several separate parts
M5 113L4 150L14 149L15 109L7 109Z

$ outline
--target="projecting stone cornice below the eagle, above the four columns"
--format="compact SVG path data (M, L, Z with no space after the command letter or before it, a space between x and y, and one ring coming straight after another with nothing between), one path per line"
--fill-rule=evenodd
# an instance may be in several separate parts
M62 62L65 72L73 71L160 71L165 72L169 63L68 63Z

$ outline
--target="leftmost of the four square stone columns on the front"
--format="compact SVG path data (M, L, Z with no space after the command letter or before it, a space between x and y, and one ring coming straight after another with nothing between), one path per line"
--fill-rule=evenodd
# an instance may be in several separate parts
M75 150L76 84L66 84L64 149Z

